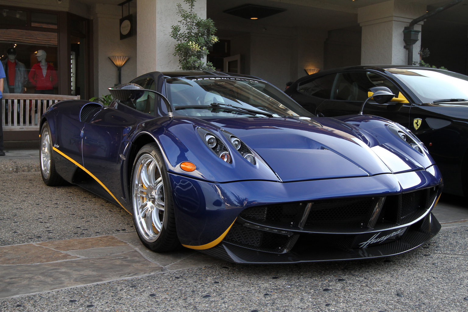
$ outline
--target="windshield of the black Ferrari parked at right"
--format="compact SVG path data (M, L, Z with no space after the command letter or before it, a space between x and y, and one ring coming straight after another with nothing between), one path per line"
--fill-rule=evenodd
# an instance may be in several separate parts
M465 75L432 68L388 68L386 71L408 86L423 103L468 100L468 77Z

